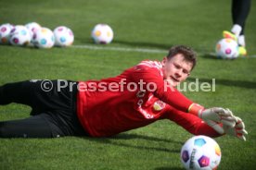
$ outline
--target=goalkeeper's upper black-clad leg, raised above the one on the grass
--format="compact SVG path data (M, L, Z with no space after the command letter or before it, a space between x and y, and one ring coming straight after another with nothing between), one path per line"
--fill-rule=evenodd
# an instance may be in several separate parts
M32 115L52 110L69 110L76 94L76 86L58 88L58 80L49 81L45 91L44 80L27 80L7 83L0 87L0 105L22 103L32 107ZM67 81L71 84L72 81ZM75 83L75 82L74 82Z

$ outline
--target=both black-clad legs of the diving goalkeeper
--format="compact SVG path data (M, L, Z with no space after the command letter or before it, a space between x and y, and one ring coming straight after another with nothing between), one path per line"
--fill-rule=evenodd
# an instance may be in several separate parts
M52 80L51 91L42 89L43 81L23 81L1 87L0 104L24 103L32 106L32 117L0 123L3 137L51 138L57 136L86 136L76 115L76 82L67 81L58 89L58 80ZM42 114L44 113L44 114ZM23 135L24 136L24 135Z

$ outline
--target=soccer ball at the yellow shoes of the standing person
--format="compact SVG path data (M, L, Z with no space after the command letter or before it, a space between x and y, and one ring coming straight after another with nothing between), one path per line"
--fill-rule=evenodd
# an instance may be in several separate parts
M222 39L217 42L216 47L217 57L224 59L235 59L238 57L238 44L232 39Z

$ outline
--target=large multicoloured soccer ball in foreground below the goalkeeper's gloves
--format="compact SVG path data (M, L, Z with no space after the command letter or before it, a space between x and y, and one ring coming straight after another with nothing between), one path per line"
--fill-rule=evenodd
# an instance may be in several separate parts
M181 162L186 169L215 170L221 162L221 149L215 140L203 135L186 140Z

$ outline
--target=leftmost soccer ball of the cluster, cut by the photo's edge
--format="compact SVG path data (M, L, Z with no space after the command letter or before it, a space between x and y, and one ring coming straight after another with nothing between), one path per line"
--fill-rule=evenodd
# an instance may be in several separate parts
M0 26L0 43L8 44L10 39L10 32L14 28L13 25L6 23Z

